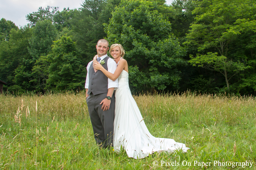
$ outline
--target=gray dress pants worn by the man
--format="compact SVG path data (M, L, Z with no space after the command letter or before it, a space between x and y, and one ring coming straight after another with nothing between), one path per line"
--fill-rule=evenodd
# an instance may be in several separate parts
M105 99L107 93L93 95L90 93L86 99L88 111L93 126L95 141L102 147L113 146L113 131L115 119L115 95L112 95L109 110L103 111L100 102Z

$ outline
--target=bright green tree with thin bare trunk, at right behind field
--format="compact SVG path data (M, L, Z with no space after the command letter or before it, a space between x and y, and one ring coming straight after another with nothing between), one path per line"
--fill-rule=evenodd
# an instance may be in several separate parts
M195 22L187 35L184 45L196 46L199 54L191 57L191 64L219 71L224 77L229 90L229 80L240 71L249 68L243 56L235 55L232 46L235 38L225 34L236 22L246 17L244 1L203 0L197 2L193 11Z

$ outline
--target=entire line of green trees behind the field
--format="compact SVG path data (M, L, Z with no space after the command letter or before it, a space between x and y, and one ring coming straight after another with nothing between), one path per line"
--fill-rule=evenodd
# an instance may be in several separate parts
M40 7L18 28L0 20L6 91L83 90L101 38L125 49L136 92L256 95L256 4L252 0L85 0Z

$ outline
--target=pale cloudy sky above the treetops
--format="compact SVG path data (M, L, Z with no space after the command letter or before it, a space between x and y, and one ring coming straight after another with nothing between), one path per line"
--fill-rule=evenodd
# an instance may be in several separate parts
M28 24L26 16L36 12L39 7L58 6L62 11L64 8L77 9L81 7L84 0L0 0L0 19L11 20L16 26ZM166 0L171 4L172 0Z

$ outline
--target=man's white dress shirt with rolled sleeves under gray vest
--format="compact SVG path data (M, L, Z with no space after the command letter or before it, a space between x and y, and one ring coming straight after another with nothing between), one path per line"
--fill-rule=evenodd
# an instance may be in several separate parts
M107 54L103 55L100 57L100 59L103 60L106 56L108 56L108 55ZM92 63L93 63L93 61L90 61L87 65L87 76L86 76L86 81L85 81L85 88L87 88L87 89L89 87L89 68ZM109 58L107 61L107 67L108 67L108 71L114 74L114 72L116 71L117 64L113 59ZM117 79L115 81L112 81L111 79L108 78L108 89L113 88L113 87L115 88L115 90L118 88Z

